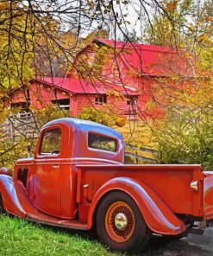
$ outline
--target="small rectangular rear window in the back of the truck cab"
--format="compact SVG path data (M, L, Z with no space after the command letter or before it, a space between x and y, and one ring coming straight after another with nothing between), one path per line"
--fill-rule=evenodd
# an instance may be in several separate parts
M116 139L95 133L89 133L88 147L96 150L116 152Z

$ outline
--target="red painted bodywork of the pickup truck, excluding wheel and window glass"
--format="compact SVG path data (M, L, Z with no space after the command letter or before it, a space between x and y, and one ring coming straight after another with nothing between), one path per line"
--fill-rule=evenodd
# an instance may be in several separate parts
M57 153L42 153L44 134L56 130ZM116 152L90 148L89 133L114 139ZM124 165L123 154L122 135L107 126L51 121L41 130L34 157L18 160L12 177L0 173L3 208L30 221L90 229L99 202L116 190L132 198L153 233L181 234L187 218L212 218L212 173L200 165ZM197 191L191 181L197 181Z

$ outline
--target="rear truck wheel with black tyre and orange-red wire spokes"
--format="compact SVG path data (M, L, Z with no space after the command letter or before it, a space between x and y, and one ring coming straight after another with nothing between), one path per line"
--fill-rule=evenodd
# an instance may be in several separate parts
M134 200L123 192L112 192L97 208L97 235L104 244L119 251L138 251L146 224Z

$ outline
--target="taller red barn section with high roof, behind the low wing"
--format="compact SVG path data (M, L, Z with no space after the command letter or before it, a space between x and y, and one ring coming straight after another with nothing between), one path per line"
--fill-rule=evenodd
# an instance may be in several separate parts
M139 118L162 118L166 97L189 86L193 75L191 56L184 50L103 38L94 39L78 52L73 67L77 66L83 67L83 72L71 68L66 78L80 75L98 80L99 75L100 82L135 90L138 95L129 96L129 102L136 109L131 113Z

